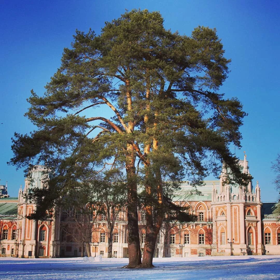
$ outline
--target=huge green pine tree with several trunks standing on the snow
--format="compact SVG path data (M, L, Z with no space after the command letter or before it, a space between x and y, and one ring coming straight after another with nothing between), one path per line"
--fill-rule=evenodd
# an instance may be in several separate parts
M132 10L106 22L99 35L76 31L45 94L31 92L26 116L38 129L15 134L10 161L27 168L43 162L57 176L90 162L97 172L106 164L125 168L132 267L141 264L136 175L156 201L146 205L144 267L152 265L163 220L163 178L184 176L198 186L209 172L218 176L223 162L229 179L240 185L250 179L229 148L241 146L246 113L219 92L230 60L216 29L198 26L186 36L163 22L158 12Z

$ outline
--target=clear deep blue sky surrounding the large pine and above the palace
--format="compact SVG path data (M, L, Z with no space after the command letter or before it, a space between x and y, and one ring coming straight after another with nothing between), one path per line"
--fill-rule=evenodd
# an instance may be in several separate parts
M279 1L4 1L1 5L0 56L0 184L18 195L24 185L21 170L8 166L13 156L14 132L33 130L23 115L30 90L41 95L60 66L63 48L70 47L75 30L97 34L105 21L120 17L125 9L160 11L165 28L190 35L197 25L216 27L232 59L231 73L220 92L238 97L249 114L241 128L243 158L246 151L253 185L256 180L263 201L275 201L271 162L280 153L280 3Z

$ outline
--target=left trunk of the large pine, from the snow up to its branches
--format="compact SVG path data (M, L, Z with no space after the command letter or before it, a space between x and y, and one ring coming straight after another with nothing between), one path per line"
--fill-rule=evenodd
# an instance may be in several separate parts
M129 264L127 268L138 267L141 265L141 250L138 229L138 209L137 209L137 181L136 169L134 166L135 156L133 155L133 147L127 145L127 227L128 227L128 256Z

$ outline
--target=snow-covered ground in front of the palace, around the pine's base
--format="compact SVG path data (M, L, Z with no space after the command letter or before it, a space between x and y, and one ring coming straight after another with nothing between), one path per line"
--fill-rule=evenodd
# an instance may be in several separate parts
M122 269L127 258L0 258L0 279L280 279L280 255L154 258L153 269Z

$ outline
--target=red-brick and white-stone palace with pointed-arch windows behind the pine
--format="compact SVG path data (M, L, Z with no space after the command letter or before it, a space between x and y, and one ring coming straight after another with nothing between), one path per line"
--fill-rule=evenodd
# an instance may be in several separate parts
M246 155L239 164L249 174ZM26 218L36 204L26 199L33 187L44 188L48 178L44 167L37 165L30 179L25 179L18 198L0 199L0 256L17 257L75 257L85 251L83 244L69 238L62 230L67 223L64 211L55 211L52 220L35 221ZM165 224L160 231L155 257L188 257L206 255L263 255L280 253L280 213L276 203L262 203L258 182L241 187L220 180L205 181L199 190L203 195L188 196L192 186L183 182L175 198L177 203L189 207L197 215L196 222ZM7 190L7 187L5 188ZM142 248L145 242L145 212L139 209L139 234ZM93 222L90 250L93 256L107 256L108 230L106 217L98 215ZM115 217L112 254L128 257L127 213L120 211Z

